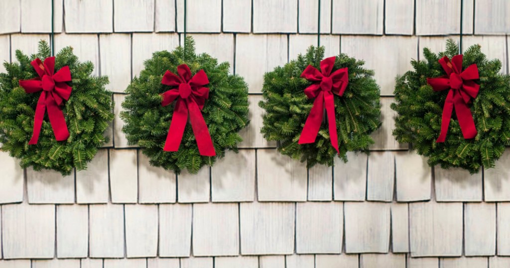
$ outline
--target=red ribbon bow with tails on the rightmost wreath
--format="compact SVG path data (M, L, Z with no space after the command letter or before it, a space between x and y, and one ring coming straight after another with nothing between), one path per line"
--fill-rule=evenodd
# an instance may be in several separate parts
M441 134L436 142L445 141L453 108L455 108L458 125L461 126L464 138L472 139L477 133L468 103L471 98L476 98L480 89L480 85L473 81L479 79L478 67L476 64L471 64L462 71L462 59L462 55L456 55L453 56L450 62L448 57L445 56L439 60L439 63L446 71L446 75L438 78L427 78L427 83L432 86L434 91L450 89L443 107Z

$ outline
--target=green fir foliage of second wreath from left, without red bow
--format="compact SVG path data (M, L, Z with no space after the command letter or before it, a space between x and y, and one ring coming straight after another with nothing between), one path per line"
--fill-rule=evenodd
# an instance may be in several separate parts
M200 155L191 124L186 124L182 142L176 152L167 152L165 139L174 116L175 102L162 106L164 92L175 88L162 84L167 70L174 74L182 69L177 66L187 64L192 76L205 71L209 79L209 98L201 114L209 129L216 156ZM195 43L191 37L185 40L185 47L174 51L160 51L144 62L145 68L127 87L128 95L122 103L124 111L120 117L125 121L122 131L129 144L138 144L150 159L150 164L174 170L182 169L195 174L203 165L212 166L217 157L223 157L225 150L237 151L242 141L238 132L248 123L248 86L238 75L228 74L230 64L208 54L195 54ZM179 71L178 71L179 70Z

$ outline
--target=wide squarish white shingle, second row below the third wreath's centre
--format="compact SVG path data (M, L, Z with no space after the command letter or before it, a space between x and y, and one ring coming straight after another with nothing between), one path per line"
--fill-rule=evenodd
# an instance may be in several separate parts
M343 204L306 202L296 205L296 253L342 252Z

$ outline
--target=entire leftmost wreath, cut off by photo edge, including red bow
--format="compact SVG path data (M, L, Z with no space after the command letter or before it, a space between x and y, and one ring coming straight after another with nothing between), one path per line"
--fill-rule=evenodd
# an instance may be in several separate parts
M50 57L45 41L37 54L16 51L19 63L4 63L0 74L2 151L22 167L54 169L69 175L85 169L108 141L113 119L107 77L91 77L94 65L81 63L71 47Z

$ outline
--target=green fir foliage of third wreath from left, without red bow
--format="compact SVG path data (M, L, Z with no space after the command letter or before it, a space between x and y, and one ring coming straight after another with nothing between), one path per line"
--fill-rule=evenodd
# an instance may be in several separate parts
M266 110L261 129L264 137L277 141L279 152L306 161L309 168L317 163L331 166L337 154L347 162L348 151L368 153L369 146L374 143L369 134L381 125L380 89L373 78L373 70L365 69L364 61L340 54L330 70L331 74L343 68L348 70L348 84L343 88L343 95L334 95L339 153L331 145L327 120L322 121L315 142L298 144L314 105L314 100L304 93L313 83L300 76L305 69L312 68L308 65L320 69L323 57L324 47L311 46L307 54L267 72L262 89L264 100L259 103Z

